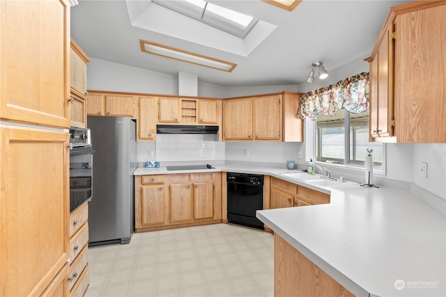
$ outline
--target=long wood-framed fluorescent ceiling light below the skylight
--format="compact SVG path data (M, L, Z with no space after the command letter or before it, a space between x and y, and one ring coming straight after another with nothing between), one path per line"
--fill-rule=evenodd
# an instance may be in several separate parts
M147 40L140 39L139 42L141 43L141 51L144 51L148 54L164 56L166 58L172 58L178 61L184 61L187 63L210 67L226 72L231 72L237 66L237 64L234 63L222 61L208 56L203 56L200 54L195 54L191 51L185 51L183 49L176 49L175 47L168 47L167 45L160 45L159 43Z

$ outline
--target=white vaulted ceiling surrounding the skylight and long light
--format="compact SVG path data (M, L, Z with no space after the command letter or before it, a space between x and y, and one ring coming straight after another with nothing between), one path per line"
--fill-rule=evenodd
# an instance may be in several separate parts
M79 0L71 8L71 36L90 58L185 72L219 86L289 85L304 82L314 61L323 61L330 72L369 56L389 8L408 1L303 0L292 11L260 0L209 2L259 19L257 27L242 39L151 0ZM139 40L237 66L224 72L146 54Z

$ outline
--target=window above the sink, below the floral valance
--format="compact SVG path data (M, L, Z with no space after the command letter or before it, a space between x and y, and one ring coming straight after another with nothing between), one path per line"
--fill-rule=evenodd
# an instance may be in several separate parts
M383 164L383 144L369 142L369 111L345 109L335 116L316 116L316 161L364 166L367 149L373 150L374 166Z

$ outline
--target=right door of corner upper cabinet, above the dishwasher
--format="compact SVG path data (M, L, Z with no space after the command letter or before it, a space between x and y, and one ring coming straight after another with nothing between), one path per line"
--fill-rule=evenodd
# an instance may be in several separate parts
M281 119L280 95L254 98L254 140L279 141Z

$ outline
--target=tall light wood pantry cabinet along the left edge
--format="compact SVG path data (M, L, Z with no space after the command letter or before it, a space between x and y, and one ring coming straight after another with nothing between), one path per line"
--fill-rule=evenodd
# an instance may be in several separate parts
M66 296L70 7L0 1L0 296Z

